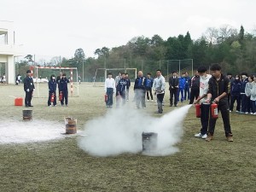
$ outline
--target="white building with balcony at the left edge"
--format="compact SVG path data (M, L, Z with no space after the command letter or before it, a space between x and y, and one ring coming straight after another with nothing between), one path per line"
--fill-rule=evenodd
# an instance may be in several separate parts
M7 83L15 84L15 56L21 54L21 45L15 44L14 22L0 20L0 76L7 78Z

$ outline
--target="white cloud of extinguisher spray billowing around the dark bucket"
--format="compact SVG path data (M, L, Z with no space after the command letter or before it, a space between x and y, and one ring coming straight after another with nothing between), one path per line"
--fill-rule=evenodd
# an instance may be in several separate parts
M175 144L183 136L183 119L191 105L177 108L160 118L143 109L110 109L105 116L88 121L79 137L79 148L94 156L142 152L142 133L155 132L157 148L148 155L168 155L178 151Z

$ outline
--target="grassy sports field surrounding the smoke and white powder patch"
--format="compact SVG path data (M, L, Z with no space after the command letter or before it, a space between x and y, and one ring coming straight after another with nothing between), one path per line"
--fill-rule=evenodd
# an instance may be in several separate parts
M46 84L40 84L40 91L43 97L32 99L33 119L64 124L63 117L72 116L83 130L87 120L107 112L101 84L81 84L79 97L70 97L67 108L48 108ZM22 85L0 86L1 122L21 121L25 108L15 107L10 96L24 95ZM166 103L168 99L167 93ZM147 107L148 113L159 116L154 114L155 103ZM166 105L164 113L173 109ZM195 108L190 108L179 152L164 157L93 157L78 147L78 135L44 143L0 144L0 191L256 191L256 116L231 113L230 119L234 142L226 141L219 118L214 140L207 143L194 137L201 124Z

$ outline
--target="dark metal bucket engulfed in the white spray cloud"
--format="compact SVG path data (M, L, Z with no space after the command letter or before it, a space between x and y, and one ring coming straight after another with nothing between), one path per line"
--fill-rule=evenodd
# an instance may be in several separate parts
M157 148L157 133L143 132L143 151L150 152Z

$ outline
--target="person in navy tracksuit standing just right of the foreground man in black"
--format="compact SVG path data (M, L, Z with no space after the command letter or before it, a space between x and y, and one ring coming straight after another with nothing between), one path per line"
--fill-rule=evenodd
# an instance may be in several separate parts
M230 88L230 112L233 111L234 103L236 102L236 112L239 113L241 108L241 81L239 75L235 76L235 80L230 85Z

